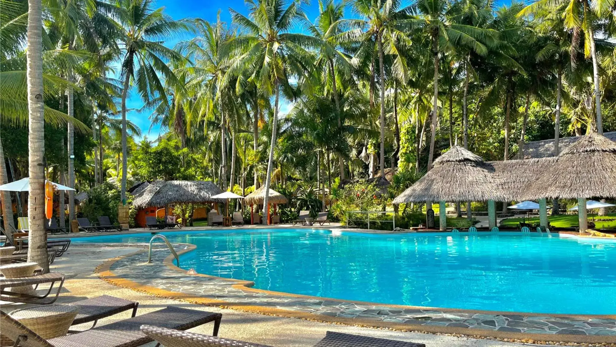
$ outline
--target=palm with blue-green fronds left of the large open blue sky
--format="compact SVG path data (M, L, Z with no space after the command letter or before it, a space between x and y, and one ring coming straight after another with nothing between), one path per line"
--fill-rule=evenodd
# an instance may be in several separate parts
M190 30L185 20L173 20L164 14L163 7L154 8L153 0L116 0L113 2L118 27L121 63L122 96L122 182L121 203L126 205L126 97L131 81L142 99L148 104L151 96L166 97L160 75L166 83L178 84L177 78L165 60L182 60L179 52L165 47L161 38Z

